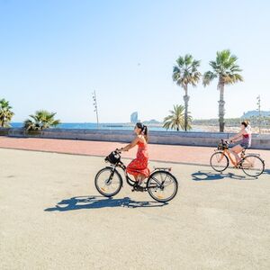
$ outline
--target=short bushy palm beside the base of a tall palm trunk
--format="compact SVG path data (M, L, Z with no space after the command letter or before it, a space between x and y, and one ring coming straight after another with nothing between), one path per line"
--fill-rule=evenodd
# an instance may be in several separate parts
M174 110L169 111L171 114L166 116L163 121L163 127L173 130L179 130L180 128L184 130L186 127L187 130L191 130L192 117L187 115L187 125L185 126L184 122L184 106L183 105L174 105Z

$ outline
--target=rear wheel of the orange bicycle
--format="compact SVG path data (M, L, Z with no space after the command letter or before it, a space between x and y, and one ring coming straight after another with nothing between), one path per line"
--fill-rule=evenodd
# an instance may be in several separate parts
M241 168L246 175L257 177L264 172L265 162L256 155L248 155L243 158Z

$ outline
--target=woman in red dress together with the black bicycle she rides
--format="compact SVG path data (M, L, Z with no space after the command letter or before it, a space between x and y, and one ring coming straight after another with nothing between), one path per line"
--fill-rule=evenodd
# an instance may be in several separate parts
M138 122L134 128L136 138L130 144L121 149L115 149L105 157L110 166L105 166L97 172L94 177L94 185L99 193L111 198L120 192L123 186L122 176L119 169L123 171L127 184L132 186L132 191L144 192L157 202L169 202L178 190L178 182L171 173L169 167L156 167L150 174L148 169L148 128ZM121 162L121 151L128 151L138 145L137 157L125 166ZM130 178L133 175L135 181ZM146 183L141 182L147 178ZM139 183L140 182L140 183Z

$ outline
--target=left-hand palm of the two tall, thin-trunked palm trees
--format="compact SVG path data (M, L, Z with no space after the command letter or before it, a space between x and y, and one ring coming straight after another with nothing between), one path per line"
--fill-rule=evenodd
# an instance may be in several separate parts
M196 86L202 76L198 71L201 61L193 59L193 56L186 54L176 59L176 66L173 70L173 80L184 89L184 130L188 126L188 85Z

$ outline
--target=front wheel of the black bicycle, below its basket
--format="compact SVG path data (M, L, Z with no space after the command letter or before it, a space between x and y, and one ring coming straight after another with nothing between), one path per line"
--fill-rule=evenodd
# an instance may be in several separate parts
M104 167L95 175L94 185L96 190L103 196L112 197L121 190L121 175L110 166Z

